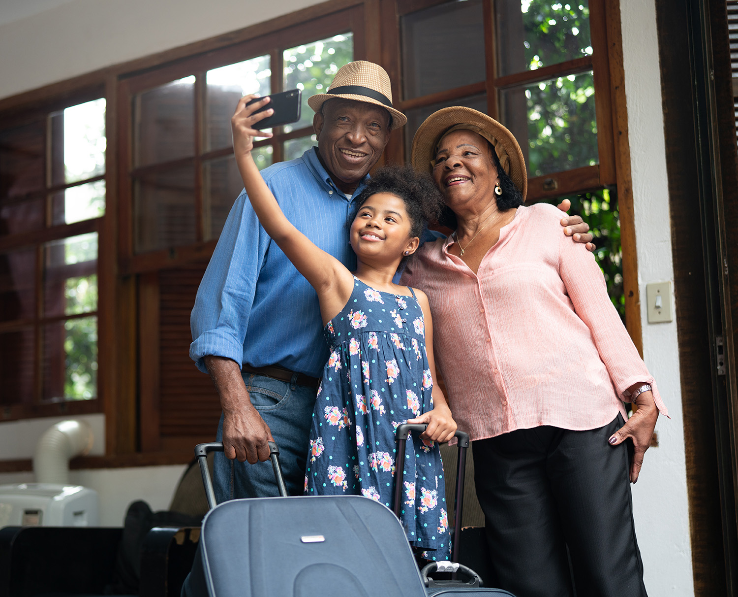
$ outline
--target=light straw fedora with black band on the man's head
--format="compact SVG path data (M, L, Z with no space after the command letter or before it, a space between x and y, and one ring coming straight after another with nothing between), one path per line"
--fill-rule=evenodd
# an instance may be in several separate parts
M308 106L320 112L325 100L343 98L345 100L365 101L382 106L392 115L392 129L399 129L407 122L407 117L392 107L390 75L382 66L365 60L344 64L338 69L328 93L318 93L308 98Z

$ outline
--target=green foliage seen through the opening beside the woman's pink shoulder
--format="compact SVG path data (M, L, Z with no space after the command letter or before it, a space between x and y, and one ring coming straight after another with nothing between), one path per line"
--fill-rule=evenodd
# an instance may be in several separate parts
M625 323L625 295L623 291L623 250L620 242L620 214L615 191L607 188L581 195L570 195L551 199L549 203L558 205L569 199L571 216L582 216L590 225L596 245L595 259L607 283L607 294Z

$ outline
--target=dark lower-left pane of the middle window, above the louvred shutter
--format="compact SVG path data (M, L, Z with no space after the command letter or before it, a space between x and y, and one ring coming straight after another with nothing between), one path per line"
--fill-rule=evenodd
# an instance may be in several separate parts
M134 250L179 247L195 242L193 166L134 179Z

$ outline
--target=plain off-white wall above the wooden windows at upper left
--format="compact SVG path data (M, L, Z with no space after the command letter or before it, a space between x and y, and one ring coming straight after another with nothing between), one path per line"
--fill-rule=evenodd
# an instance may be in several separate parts
M311 4L317 2L66 1L0 25L0 98L268 21ZM0 23L16 13L1 3Z

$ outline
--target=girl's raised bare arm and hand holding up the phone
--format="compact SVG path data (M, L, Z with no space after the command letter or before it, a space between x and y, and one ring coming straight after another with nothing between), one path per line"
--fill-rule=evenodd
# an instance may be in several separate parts
M249 196L259 222L297 268L297 271L303 274L317 291L323 321L328 321L348 301L354 287L354 279L345 265L331 254L315 246L307 236L292 225L261 177L251 154L254 137L271 137L272 134L258 131L253 126L259 120L272 115L274 111L269 108L254 114L261 106L269 103L267 97L246 106L246 103L256 97L246 95L241 98L231 118L233 153L238 164L238 171L241 172L246 194Z

